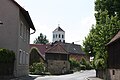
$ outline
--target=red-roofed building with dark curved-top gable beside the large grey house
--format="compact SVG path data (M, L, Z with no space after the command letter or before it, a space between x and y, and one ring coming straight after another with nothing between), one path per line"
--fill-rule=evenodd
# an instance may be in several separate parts
M50 44L30 44L29 65L32 65L36 61L45 62L45 51L50 47Z

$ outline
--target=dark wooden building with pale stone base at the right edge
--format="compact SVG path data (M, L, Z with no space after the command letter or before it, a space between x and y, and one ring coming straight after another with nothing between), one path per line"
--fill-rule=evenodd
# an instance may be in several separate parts
M107 44L107 80L120 80L120 31Z

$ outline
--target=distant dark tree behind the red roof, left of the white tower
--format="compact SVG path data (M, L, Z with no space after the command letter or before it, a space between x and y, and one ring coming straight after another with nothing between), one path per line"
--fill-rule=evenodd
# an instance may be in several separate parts
M40 36L34 40L34 44L47 44L49 43L48 39L46 39L46 35L40 33Z

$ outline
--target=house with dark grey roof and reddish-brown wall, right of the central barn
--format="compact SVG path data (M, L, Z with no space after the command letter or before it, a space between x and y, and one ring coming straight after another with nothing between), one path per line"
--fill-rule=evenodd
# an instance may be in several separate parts
M60 43L61 46L70 54L70 59L74 59L76 61L81 61L82 58L85 58L89 61L89 56L82 51L81 45L73 43Z

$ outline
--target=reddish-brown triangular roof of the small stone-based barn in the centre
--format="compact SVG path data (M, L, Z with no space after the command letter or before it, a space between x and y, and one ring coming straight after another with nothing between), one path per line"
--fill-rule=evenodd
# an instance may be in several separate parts
M48 49L46 53L68 54L67 51L59 43Z

